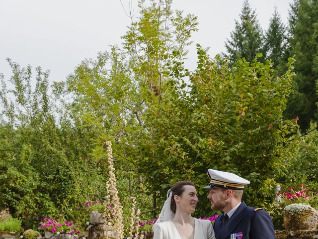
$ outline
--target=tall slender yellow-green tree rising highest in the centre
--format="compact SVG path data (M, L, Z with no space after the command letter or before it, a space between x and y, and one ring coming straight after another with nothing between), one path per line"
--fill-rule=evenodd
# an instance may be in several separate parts
M140 93L136 105L140 106L137 114L141 121L135 130L134 144L138 142L138 148L134 157L138 162L138 172L146 180L151 180L149 190L153 194L155 209L157 197L161 198L157 195L158 188L168 186L156 178L159 173L156 168L165 157L156 149L164 126L160 116L172 107L170 103L182 97L186 86L183 77L188 75L183 66L186 47L191 44L191 34L197 30L198 24L197 17L191 14L183 16L178 10L173 12L170 4L171 1L160 0L159 4L153 2L148 7L142 1L141 16L123 36L125 49L134 62L133 76ZM183 113L180 111L180 114ZM154 171L149 170L152 165Z

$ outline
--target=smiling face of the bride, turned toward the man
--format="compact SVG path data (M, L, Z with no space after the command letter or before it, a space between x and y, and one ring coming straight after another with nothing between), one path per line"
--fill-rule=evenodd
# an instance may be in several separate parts
M181 212L193 213L199 201L197 191L191 185L185 185L183 188L181 196L174 196L177 209Z

